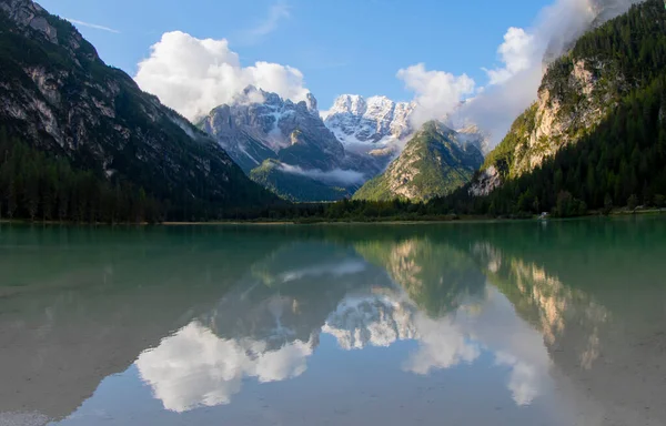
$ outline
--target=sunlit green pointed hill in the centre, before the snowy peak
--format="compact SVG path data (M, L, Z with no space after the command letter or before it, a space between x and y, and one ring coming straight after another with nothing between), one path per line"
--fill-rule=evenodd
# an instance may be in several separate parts
M457 132L430 122L410 140L400 156L354 197L427 201L450 194L472 180L483 163L478 148Z

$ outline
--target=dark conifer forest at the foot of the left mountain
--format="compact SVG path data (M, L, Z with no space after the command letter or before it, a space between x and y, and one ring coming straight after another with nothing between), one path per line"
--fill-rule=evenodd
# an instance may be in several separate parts
M87 223L160 222L164 205L127 182L73 169L0 129L0 217Z

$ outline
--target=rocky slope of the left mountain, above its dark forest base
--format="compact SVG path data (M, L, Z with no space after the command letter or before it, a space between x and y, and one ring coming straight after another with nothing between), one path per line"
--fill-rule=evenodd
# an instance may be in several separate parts
M214 141L107 67L71 23L30 0L0 0L0 124L10 134L173 203L200 197L203 181L220 205L263 193Z

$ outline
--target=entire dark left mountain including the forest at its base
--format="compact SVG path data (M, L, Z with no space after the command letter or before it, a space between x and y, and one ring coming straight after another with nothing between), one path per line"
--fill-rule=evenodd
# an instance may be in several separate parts
M9 215L97 221L118 210L134 220L151 199L162 217L192 220L275 200L31 0L0 0L0 126Z

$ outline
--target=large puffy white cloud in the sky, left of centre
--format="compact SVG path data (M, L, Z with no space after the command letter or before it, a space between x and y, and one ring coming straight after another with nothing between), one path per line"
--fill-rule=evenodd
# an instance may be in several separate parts
M242 67L226 40L200 40L181 31L162 36L139 63L134 80L192 121L233 102L249 85L296 102L309 93L303 73L295 68L269 62Z

